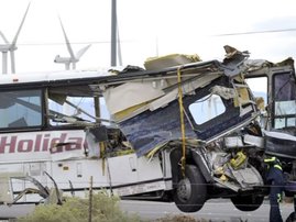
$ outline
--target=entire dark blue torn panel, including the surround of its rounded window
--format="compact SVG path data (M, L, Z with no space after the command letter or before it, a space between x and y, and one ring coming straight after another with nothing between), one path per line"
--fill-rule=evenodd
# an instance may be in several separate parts
M240 116L240 109L233 107L231 101L224 100L227 111L221 115L201 124L197 125L188 110L189 104L209 93L209 89L217 85L222 84L223 79L216 80L202 89L196 90L195 95L187 95L183 98L183 106L187 116L185 121L186 137L198 138L208 141L219 134L231 132L239 124L245 124L252 119L254 111L248 112ZM224 85L226 86L226 85ZM165 108L155 111L145 111L134 118L122 121L119 123L120 129L127 136L128 141L132 144L138 156L149 153L156 146L165 144L166 142L179 140L180 134L180 119L178 101L173 101ZM193 129L194 127L194 129Z

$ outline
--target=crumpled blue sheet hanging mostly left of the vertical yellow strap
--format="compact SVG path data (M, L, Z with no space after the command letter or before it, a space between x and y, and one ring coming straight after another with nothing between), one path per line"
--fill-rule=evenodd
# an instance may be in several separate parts
M136 155L142 156L156 145L182 137L178 103L174 101L166 108L154 112L145 111L121 122L120 127L128 141L133 145ZM187 137L196 137L186 119L185 131Z

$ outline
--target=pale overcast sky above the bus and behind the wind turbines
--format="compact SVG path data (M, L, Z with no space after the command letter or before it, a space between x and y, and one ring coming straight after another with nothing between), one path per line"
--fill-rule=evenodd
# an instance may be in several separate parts
M58 15L75 52L92 44L77 69L110 66L111 0L0 0L0 31L9 41L29 2L17 73L64 69L53 62L57 54L68 56ZM248 49L251 58L296 57L295 0L118 0L117 8L123 65L142 66L157 53L222 59L227 44ZM221 36L286 29L295 31Z

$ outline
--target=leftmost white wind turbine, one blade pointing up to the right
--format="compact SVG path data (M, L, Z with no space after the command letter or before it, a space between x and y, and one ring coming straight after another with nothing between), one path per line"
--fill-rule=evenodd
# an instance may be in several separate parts
M0 52L2 53L2 74L7 74L8 73L8 52L10 52L10 63L11 63L11 73L14 74L15 73L15 59L14 59L14 51L18 48L17 47L17 41L19 37L19 34L21 32L21 29L23 26L26 13L29 11L30 8L30 3L25 10L23 20L19 26L19 30L12 41L12 43L10 43L7 37L4 36L4 34L0 31L0 35L2 37L2 40L4 41L6 44L0 45Z

